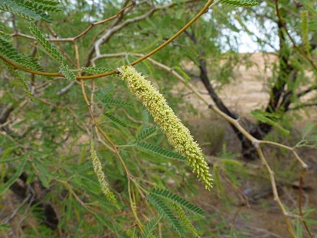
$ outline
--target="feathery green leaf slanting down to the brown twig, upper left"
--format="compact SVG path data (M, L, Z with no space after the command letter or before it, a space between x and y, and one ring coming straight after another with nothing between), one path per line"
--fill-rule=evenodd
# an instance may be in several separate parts
M37 39L37 41L41 44L41 46L59 63L63 64L63 58L56 48L52 47L51 42L45 39L42 35L42 32L36 27L33 22L30 22L30 30L32 35ZM72 73L74 74L74 73ZM66 76L66 75L65 75Z

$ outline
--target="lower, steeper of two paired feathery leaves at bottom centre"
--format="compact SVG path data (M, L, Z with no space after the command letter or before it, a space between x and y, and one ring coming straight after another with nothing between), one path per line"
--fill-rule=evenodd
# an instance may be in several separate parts
M176 219L171 210L167 207L163 200L153 193L147 196L147 200L155 207L161 216L168 222L168 224L177 232L181 237L184 234L184 230Z

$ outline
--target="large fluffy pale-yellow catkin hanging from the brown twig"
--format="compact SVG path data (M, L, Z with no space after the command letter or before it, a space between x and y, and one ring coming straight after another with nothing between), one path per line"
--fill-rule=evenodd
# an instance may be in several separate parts
M134 67L128 66L118 69L121 72L122 80L130 91L148 109L162 130L165 131L167 140L178 153L183 154L188 159L188 164L193 168L193 173L197 173L199 180L205 183L205 187L212 187L212 178L209 174L209 167L198 143L194 141L189 129L183 125L168 106L164 96L145 79L144 75L138 73Z

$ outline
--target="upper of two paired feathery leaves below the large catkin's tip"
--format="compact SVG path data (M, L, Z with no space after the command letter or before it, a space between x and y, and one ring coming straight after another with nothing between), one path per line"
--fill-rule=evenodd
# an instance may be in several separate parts
M186 199L178 196L177 194L175 194L171 191L168 191L166 189L161 189L161 188L154 188L150 194L152 194L152 193L156 194L159 197L165 198L171 202L174 202L174 203L178 204L179 206L184 207L187 211L189 211L195 215L205 217L205 211L203 209L190 203Z

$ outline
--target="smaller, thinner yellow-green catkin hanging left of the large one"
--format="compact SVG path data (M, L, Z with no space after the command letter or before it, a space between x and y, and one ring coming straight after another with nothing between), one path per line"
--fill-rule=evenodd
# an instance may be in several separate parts
M109 184L106 181L106 176L105 176L105 173L103 172L103 167L97 156L93 139L91 139L91 143L90 143L90 157L91 157L91 160L93 161L93 168L99 180L101 190L105 194L106 199L109 202L111 202L116 208L120 209L120 206L118 205L117 200L115 199L113 193L109 189Z

